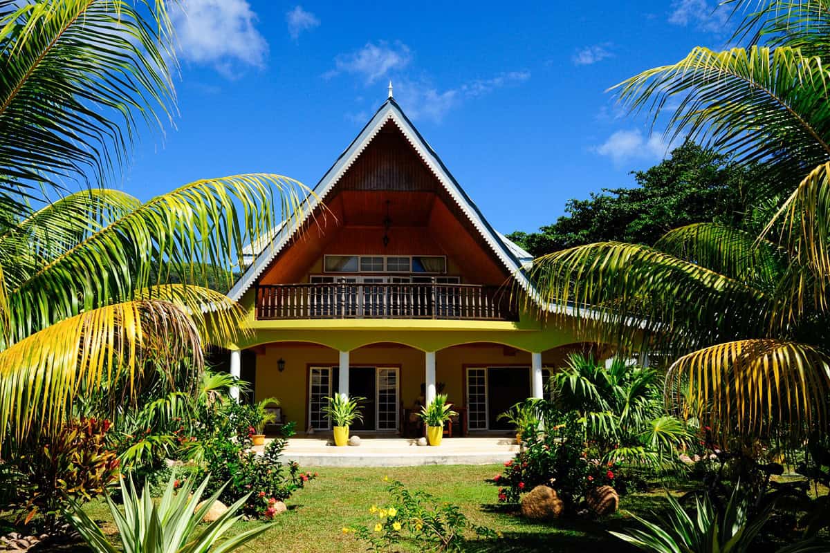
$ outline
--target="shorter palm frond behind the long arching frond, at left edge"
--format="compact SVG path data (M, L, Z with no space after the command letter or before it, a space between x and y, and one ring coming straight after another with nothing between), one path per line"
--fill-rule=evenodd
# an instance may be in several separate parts
M0 265L12 288L44 264L134 211L140 201L105 188L76 192L32 213L0 234Z

